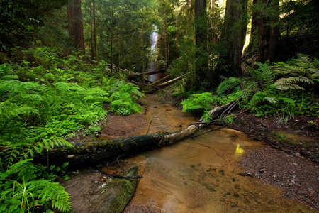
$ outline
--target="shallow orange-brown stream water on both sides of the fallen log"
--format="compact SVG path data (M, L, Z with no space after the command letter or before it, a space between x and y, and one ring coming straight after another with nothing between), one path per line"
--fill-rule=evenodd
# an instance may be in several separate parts
M150 127L140 134L178 131L198 120L153 97L147 104ZM262 146L222 129L130 158L141 165L143 178L124 212L312 212L278 188L242 175L245 168L237 161Z

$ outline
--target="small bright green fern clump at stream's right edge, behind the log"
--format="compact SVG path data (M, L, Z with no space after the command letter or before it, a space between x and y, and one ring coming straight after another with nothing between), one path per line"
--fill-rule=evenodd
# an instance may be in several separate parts
M200 115L203 111L209 111L211 104L213 104L212 94L209 92L203 92L202 94L191 94L191 96L181 102L183 105L183 111L188 113Z

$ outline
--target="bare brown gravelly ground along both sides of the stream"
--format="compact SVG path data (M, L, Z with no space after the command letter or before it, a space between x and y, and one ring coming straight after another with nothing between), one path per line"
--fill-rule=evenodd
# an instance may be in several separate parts
M179 100L164 97L162 102L176 107ZM234 111L234 114L240 111ZM125 137L147 125L143 114L108 116L101 135ZM250 113L237 116L228 127L242 131L248 137L266 142L269 147L252 151L240 160L243 171L267 185L284 189L284 196L306 203L319 210L319 119L298 117L283 123L280 118L264 119ZM81 138L78 138L81 140ZM72 212L90 212L91 195L101 195L100 185L111 178L95 168L73 172L71 180L61 180L72 196ZM96 198L98 199L98 198ZM100 199L100 198L99 198ZM150 209L148 209L150 210Z

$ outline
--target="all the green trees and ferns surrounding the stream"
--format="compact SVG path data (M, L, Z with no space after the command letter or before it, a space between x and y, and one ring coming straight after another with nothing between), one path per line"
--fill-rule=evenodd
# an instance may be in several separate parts
M150 60L170 77L185 75L169 92L206 121L213 105L228 102L282 122L319 116L318 1L225 3L0 0L0 211L69 211L69 195L55 182L67 163L33 157L98 134L108 111L140 113L135 84L147 89L139 74ZM237 19L228 20L234 11ZM245 36L230 35L246 35L250 20L242 55Z

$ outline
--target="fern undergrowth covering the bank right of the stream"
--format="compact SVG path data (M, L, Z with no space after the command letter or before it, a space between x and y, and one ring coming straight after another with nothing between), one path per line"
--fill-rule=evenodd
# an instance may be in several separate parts
M318 60L298 55L287 62L269 65L257 62L257 69L250 69L250 77L230 77L216 89L216 94L192 94L181 102L183 110L201 113L212 104L237 102L240 108L250 109L256 116L279 116L286 122L295 115L319 116ZM209 120L209 116L203 116ZM233 118L225 121L232 122Z

